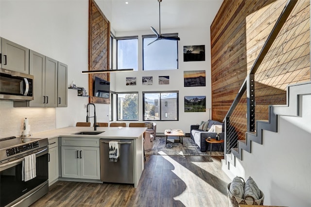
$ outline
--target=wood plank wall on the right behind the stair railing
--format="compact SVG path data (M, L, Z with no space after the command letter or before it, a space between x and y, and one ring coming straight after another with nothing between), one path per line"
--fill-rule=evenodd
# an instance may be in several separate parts
M224 120L285 3L224 0L210 27L212 119ZM310 1L298 0L285 24L255 74L256 119L268 118L269 104L286 103L288 84L310 81ZM238 131L246 128L244 103L233 114Z

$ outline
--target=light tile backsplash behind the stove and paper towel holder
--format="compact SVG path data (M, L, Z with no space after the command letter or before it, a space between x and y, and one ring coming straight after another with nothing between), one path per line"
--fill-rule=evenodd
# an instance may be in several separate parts
M20 136L25 117L29 119L29 133L56 128L55 108L15 108L13 101L0 101L0 138Z

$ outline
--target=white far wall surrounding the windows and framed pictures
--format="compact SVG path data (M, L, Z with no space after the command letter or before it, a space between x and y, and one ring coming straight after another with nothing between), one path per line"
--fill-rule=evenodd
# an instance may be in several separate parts
M206 96L207 106L211 108L211 82L210 82L210 32L209 27L163 30L162 33L178 32L180 41L178 41L178 65L177 70L159 70L142 71L142 38L141 35L153 34L151 30L136 32L117 32L116 36L138 35L138 71L123 72L116 74L115 91L116 92L138 92L138 118L142 121L142 91L179 91L179 121L155 121L157 123L157 133L164 133L168 128L179 128L186 133L190 133L191 124L200 124L203 120L208 120L207 112L184 112L184 96ZM183 46L205 45L206 60L197 62L183 61ZM184 71L206 70L206 87L184 87ZM152 76L153 85L142 85L143 76ZM170 76L169 85L159 85L159 76ZM127 86L126 77L136 77L136 86Z

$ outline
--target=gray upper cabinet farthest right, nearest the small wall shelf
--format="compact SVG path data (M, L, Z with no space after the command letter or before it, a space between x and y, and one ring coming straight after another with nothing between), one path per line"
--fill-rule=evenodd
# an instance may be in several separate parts
M58 62L57 67L57 107L67 107L68 65Z

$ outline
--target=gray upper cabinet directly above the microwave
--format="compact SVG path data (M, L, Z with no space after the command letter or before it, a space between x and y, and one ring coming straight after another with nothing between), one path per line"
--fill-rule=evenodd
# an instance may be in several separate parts
M1 38L1 67L29 74L29 49Z

